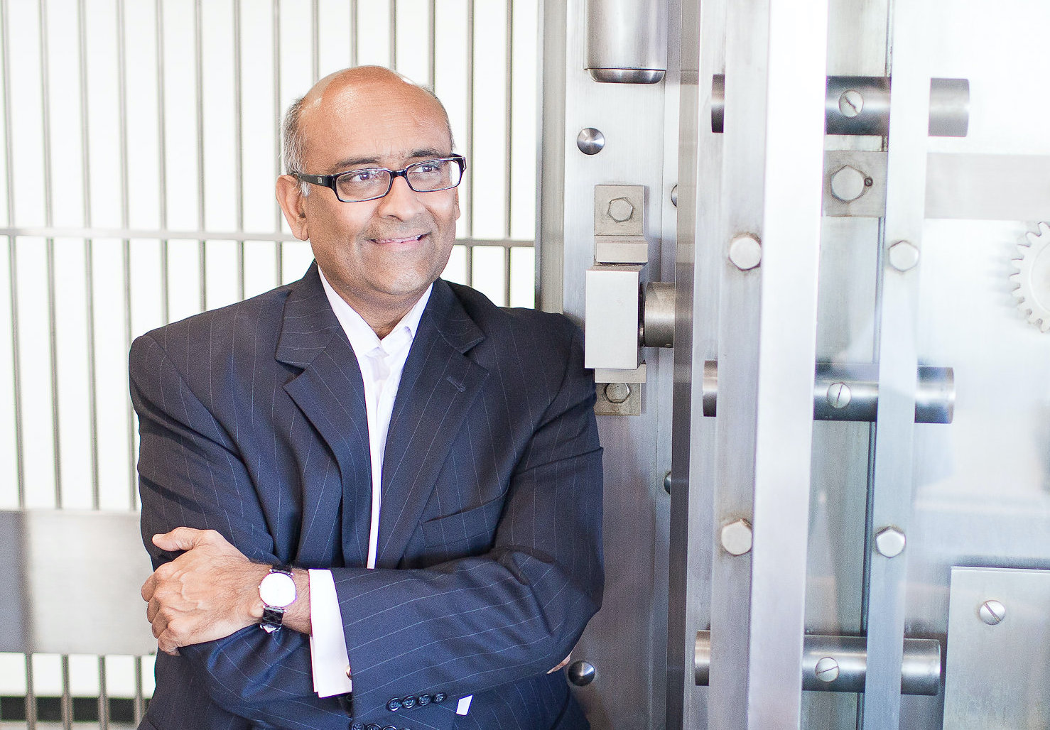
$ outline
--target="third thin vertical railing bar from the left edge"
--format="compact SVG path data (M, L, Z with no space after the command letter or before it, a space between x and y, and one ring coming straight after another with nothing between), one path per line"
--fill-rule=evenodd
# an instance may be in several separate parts
M87 115L87 27L84 22L84 0L77 1L78 57L80 61L80 136L81 136L81 187L84 200L84 226L91 227L91 153L90 128ZM91 507L99 509L101 502L99 485L99 393L94 380L94 258L90 238L84 239L84 324L87 328L87 407L88 435L91 443Z

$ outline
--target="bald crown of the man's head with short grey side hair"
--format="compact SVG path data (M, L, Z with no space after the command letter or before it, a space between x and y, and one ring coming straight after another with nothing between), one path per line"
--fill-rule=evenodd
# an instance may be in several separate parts
M324 77L288 108L282 125L285 172L307 172L303 165L310 145L308 121L323 124L324 117L333 112L352 112L356 106L366 107L380 99L387 104L415 102L433 108L448 130L449 149L455 146L448 112L434 93L388 68L357 66ZM306 194L309 185L302 186Z

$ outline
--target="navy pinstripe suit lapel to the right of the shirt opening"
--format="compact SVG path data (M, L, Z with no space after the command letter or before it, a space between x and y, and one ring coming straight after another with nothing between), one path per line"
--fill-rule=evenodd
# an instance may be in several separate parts
M448 284L434 282L386 436L377 567L400 562L453 441L488 377L464 355L483 339Z

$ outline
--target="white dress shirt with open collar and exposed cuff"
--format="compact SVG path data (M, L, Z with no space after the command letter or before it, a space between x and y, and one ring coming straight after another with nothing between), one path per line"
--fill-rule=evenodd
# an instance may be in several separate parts
M332 288L324 274L320 273L320 276L329 303L346 332L350 346L354 348L364 383L364 409L369 418L369 449L372 455L372 520L366 564L371 570L376 566L383 452L386 450L386 431L394 413L394 396L397 395L401 371L416 337L419 320L430 298L433 285L427 287L390 335L380 340L369 323ZM346 638L342 632L339 599L336 597L331 571L310 571L310 623L313 627L310 654L314 691L320 697L351 691Z

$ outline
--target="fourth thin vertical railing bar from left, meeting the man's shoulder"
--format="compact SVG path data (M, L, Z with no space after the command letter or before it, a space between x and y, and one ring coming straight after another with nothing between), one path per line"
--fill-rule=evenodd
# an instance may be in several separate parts
M119 105L119 133L121 142L120 165L121 165L121 226L127 228L130 219L130 198L128 174L128 89L127 89L127 57L125 48L126 23L124 18L124 0L117 0L117 68L120 79L117 82L118 105ZM163 122L162 122L163 125ZM163 159L163 148L161 152ZM163 180L163 176L161 178ZM131 349L131 241L126 236L121 238L121 262L124 267L124 346ZM162 258L166 261L167 257ZM163 263L162 263L163 266ZM166 291L167 277L161 282L162 292ZM167 321L167 296L164 296L164 321ZM93 338L92 329L92 338ZM138 489L135 479L134 464L134 410L131 403L125 403L125 413L127 415L127 437L128 437L128 507L132 510L136 506Z

